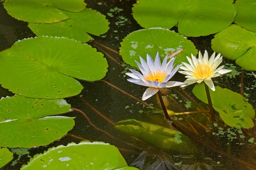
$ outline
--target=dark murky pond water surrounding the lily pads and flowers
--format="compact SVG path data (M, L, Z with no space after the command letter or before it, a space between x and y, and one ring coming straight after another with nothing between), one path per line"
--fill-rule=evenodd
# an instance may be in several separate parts
M125 75L125 72L132 67L123 62L122 57L118 54L122 39L129 33L143 28L131 14L131 8L136 0L108 0L104 2L85 0L85 2L87 8L96 9L105 14L110 22L110 29L107 33L102 36L91 35L94 40L88 43L97 51L102 52L107 59L109 65L107 75L102 80L95 82L79 80L84 86L81 94L65 98L72 108L83 111L90 119L90 123L79 112L65 113L64 116L76 117L74 128L58 141L44 147L29 149L29 156L44 153L48 148L60 144L79 143L86 139L115 145L119 148L128 165L141 169L143 167L145 170L175 169L175 166L180 164L183 165L181 166L182 170L200 170L200 168L202 170L252 170L253 167L256 167L254 160L255 144L252 139L255 137L254 127L236 129L225 125L221 119L217 119L217 124L212 125L209 122L209 113L193 113L173 116L172 118L174 126L191 139L191 145L197 147L197 151L190 153L188 150L191 148L188 147L180 148L181 152L172 148L164 149L161 147L161 143L157 143L158 137L154 135L155 144L149 144L116 130L113 123L127 119L136 119L171 129L174 127L164 119L163 115L149 114L154 109L161 109L157 95L142 102L141 97L146 88L127 81L128 76ZM123 10L116 12L114 17L110 17L107 13L115 7ZM26 22L16 20L7 14L3 8L3 3L0 3L0 16L0 51L10 48L17 40L35 37L35 34L27 27ZM127 21L123 25L115 24L120 21L120 17L127 18ZM172 28L172 30L177 32L177 27ZM209 36L188 37L188 40L194 43L198 51L207 50L209 54L212 54L211 40L213 38L214 34L211 34ZM151 54L151 56L154 55ZM228 59L223 59L222 64L225 65L225 68L233 71L214 78L215 86L228 88L241 94L255 108L255 78L251 71L240 68L234 61ZM175 74L173 79L180 82L185 81L182 74ZM167 109L176 113L198 111L198 109L207 111L206 104L200 102L192 94L193 87L194 85L190 85L184 89L175 87L169 88L168 91L162 91L162 94L168 94L164 98ZM13 95L7 89L0 87L0 97ZM161 142L161 140L159 141ZM13 161L17 158L18 155L15 154ZM29 159L28 155L25 154L15 165L11 161L2 169L20 169ZM141 167L138 167L139 165Z

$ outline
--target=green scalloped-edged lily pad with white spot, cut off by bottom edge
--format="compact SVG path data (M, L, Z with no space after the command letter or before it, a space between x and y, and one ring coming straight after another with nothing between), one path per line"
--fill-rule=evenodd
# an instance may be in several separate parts
M125 168L124 168L125 167ZM122 169L124 168L124 169ZM119 150L104 142L82 141L49 148L20 170L138 170L128 168Z

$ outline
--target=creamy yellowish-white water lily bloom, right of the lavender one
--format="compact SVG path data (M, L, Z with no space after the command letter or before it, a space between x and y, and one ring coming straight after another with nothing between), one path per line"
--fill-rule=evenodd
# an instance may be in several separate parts
M224 65L221 65L219 68L217 68L222 62L221 54L218 54L215 57L214 52L208 60L208 53L205 50L204 57L202 57L200 51L198 59L193 54L191 54L191 57L192 59L187 57L189 64L183 62L184 66L180 67L183 71L179 71L179 73L186 75L185 77L187 79L184 83L187 83L187 85L191 85L195 82L201 83L204 81L205 84L207 84L209 88L212 89L212 91L215 91L215 86L212 82L212 78L232 71L228 69L223 69ZM186 85L181 85L181 87L184 86Z

